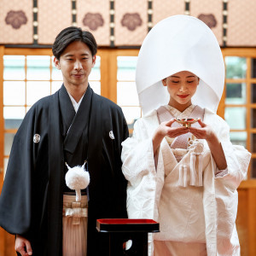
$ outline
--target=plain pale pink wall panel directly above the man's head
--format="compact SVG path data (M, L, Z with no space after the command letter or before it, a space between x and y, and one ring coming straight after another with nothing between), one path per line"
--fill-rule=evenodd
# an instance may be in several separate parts
M71 10L71 1L38 0L38 44L53 44L63 28L72 26Z

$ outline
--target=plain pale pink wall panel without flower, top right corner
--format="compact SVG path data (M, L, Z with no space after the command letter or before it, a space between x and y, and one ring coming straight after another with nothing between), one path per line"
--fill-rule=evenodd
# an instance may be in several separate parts
M256 1L232 0L228 3L228 46L256 46Z

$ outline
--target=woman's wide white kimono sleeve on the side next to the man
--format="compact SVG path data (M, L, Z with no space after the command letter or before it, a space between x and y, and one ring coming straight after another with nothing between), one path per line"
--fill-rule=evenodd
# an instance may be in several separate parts
M153 118L155 121L153 123L159 125L155 118L156 116ZM155 126L148 128L148 124L151 122L146 122L144 119L137 120L132 137L122 143L122 171L128 180L129 218L154 218L156 170L152 134Z

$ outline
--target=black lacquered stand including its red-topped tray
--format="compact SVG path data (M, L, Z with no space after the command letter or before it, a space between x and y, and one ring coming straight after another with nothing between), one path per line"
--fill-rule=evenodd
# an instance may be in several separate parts
M153 219L102 218L97 219L96 230L109 234L110 256L148 256L148 233L159 232L159 223ZM125 250L124 241L132 241Z

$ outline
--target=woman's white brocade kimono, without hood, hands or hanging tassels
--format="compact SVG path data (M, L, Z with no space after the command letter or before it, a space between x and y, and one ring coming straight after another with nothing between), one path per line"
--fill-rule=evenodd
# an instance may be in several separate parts
M166 140L161 143L158 160L154 163L152 137L159 125L157 112L154 110L137 120L133 136L122 143L122 170L128 180L128 216L159 221L160 233L153 235L154 240L177 240L175 237L178 237L180 242L205 241L208 256L238 256L240 245L236 232L236 189L246 177L251 154L245 148L230 143L229 126L208 109L205 109L204 123L216 132L224 149L228 169L222 177L215 177L214 174L219 170L207 143L204 143L204 186L188 190L178 188L173 178L177 175L179 163L172 152L165 149L169 148ZM187 158L189 155L184 156L180 164ZM166 168L170 170L169 174ZM174 223L175 220L187 221L188 225ZM198 226L201 228L198 229ZM148 255L154 255L151 240L148 248Z

